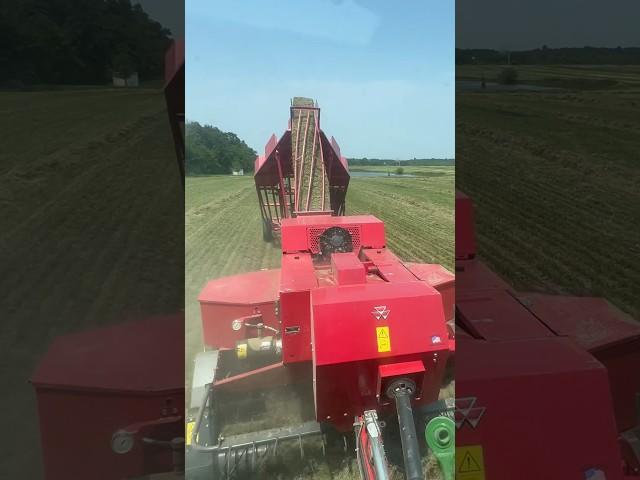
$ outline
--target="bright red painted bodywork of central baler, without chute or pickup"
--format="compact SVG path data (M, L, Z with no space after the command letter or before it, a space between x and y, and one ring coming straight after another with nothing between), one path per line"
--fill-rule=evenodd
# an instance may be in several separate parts
M352 232L355 250L324 259L317 253L317 236L334 226ZM316 419L344 431L351 430L354 417L365 410L392 413L394 404L380 389L399 376L415 380L416 403L436 400L453 346L443 299L429 281L385 248L384 224L366 215L314 214L284 219L281 236L279 276L267 271L215 280L200 296L209 309L205 312L203 305L204 328L210 328L205 338L217 338L217 344L224 338L230 347L248 332L230 328L229 305L248 312L279 299L278 317L265 316L265 323L280 331L281 363L226 379L216 388L236 388L236 382L243 385L238 388L249 388L249 378L265 379L261 373L283 369L295 372L290 378L304 381L306 376L310 381L313 372ZM453 287L446 270L418 270L425 278L433 274L432 283ZM277 290L257 287L276 279ZM382 327L388 329L390 346L378 343Z

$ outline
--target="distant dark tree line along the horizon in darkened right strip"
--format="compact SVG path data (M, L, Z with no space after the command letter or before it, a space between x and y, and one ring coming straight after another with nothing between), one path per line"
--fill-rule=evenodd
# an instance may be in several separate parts
M638 65L640 48L549 48L500 51L456 48L457 65Z

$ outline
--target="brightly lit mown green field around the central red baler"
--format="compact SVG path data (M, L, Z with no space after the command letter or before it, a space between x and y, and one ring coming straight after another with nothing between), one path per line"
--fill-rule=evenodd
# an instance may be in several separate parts
M352 178L347 214L370 213L386 225L389 247L403 260L441 263L453 271L454 168L413 167L415 178ZM375 167L373 167L375 170ZM186 382L202 349L197 296L207 280L260 268L277 268L280 251L262 240L253 178L191 177L186 183ZM452 394L452 386L448 390ZM288 398L280 399L286 403ZM277 409L276 409L277 410ZM288 410L299 411L293 406ZM279 415L280 413L269 412ZM325 466L307 479L350 479L348 469L328 476ZM439 478L434 472L429 478ZM289 477L287 477L289 478ZM295 477L300 478L300 477ZM393 478L400 478L394 476Z

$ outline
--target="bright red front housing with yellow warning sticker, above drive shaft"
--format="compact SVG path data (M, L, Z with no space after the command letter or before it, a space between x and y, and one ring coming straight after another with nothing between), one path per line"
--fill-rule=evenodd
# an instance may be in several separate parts
M354 415L376 408L383 364L424 362L420 401L437 398L448 354L437 291L420 281L370 283L318 288L311 301L318 420L349 429ZM379 328L390 345L381 347Z

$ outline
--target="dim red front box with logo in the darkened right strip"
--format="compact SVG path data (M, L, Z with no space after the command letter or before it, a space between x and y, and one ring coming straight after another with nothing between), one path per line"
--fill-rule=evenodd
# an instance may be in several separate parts
M483 448L486 478L623 478L607 372L570 339L466 340L457 357L456 446Z

